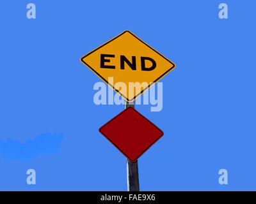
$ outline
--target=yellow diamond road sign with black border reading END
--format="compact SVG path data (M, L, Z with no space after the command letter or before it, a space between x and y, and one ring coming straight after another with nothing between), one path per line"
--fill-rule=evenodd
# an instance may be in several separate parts
M175 68L173 62L130 31L95 48L81 62L128 102Z

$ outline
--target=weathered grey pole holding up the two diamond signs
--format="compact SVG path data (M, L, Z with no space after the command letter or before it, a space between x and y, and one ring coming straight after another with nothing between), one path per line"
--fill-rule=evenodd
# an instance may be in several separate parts
M132 108L134 108L134 101L131 103L125 101L124 108L128 108L129 106L132 106ZM140 191L138 161L131 162L129 159L127 159L126 164L127 191Z

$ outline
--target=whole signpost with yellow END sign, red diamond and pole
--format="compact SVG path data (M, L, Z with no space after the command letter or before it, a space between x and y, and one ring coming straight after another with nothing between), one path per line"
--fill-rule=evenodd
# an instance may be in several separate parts
M125 110L99 131L127 157L128 191L140 191L138 158L163 136L163 131L134 109L134 100L175 64L131 31L95 48L81 57L81 62L125 100Z

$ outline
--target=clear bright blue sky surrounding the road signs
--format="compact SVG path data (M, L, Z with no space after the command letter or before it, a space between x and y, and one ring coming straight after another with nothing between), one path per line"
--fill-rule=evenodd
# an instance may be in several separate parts
M26 18L28 3L36 4L35 20ZM227 20L218 18L220 3L228 4ZM141 190L256 190L255 6L1 1L0 190L127 190L126 159L98 131L124 106L95 105L100 79L79 61L127 29L177 64L161 80L163 110L136 106L164 131L138 161ZM56 146L44 152L51 140ZM13 151L34 142L42 152L3 154L7 142ZM26 184L29 168L35 186ZM218 184L221 168L227 186Z

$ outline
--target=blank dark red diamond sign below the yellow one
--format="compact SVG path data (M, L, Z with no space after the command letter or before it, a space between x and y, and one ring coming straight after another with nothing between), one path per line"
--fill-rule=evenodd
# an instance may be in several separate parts
M164 135L161 129L132 107L109 120L99 131L132 162Z

